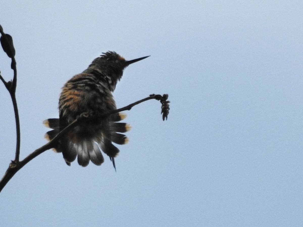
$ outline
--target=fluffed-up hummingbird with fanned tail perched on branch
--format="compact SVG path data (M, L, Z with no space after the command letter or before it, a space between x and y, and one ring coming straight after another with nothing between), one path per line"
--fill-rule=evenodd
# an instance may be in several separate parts
M114 158L119 149L112 142L127 143L128 138L121 133L128 131L130 126L119 122L126 117L123 113L112 114L106 119L98 117L117 109L112 92L121 79L123 70L147 57L149 56L126 61L116 52L108 51L93 60L82 73L65 83L59 98L59 119L43 121L45 126L53 129L45 134L45 138L52 140L60 130L82 113L89 113L94 119L81 122L54 147L56 152L62 152L66 164L70 166L78 156L81 166L87 166L89 160L95 165L101 165L104 162L102 150L110 157L116 169Z

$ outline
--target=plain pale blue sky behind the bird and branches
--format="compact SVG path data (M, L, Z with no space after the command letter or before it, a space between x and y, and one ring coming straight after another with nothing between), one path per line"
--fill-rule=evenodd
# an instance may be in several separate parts
M127 60L118 107L130 142L117 173L67 166L51 150L0 193L2 226L302 226L302 1L15 1L13 37L23 159L46 143L63 84L105 51ZM0 70L12 78L0 51ZM0 84L0 175L15 157L12 103Z

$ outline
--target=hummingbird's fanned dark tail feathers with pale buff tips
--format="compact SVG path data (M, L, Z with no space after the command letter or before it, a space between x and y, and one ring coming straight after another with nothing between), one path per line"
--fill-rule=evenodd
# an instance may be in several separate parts
M101 165L104 162L101 148L110 157L116 169L114 158L118 155L119 149L112 142L116 144L128 142L128 138L121 133L130 130L131 126L118 122L125 117L125 113L116 113L111 115L109 121L102 122L100 127L97 125L77 126L63 136L53 150L62 152L68 165L78 156L79 165L87 166L89 160L95 165ZM52 140L60 131L60 122L57 118L44 120L43 124L52 129L45 134L48 140Z

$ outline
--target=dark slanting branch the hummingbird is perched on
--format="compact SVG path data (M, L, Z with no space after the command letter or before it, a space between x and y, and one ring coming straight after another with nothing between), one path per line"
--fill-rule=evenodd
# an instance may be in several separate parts
M120 109L117 110L113 110L110 111L108 113L103 114L101 117L98 117L99 119L103 119L108 117L109 115L113 114L113 113L119 113L121 111L124 110L130 110L132 109L132 107L134 107L135 105L138 105L142 102L145 102L147 100L151 100L151 99L156 99L156 100L160 100L160 102L162 103L163 101L166 101L168 95L155 95L155 94L151 94L149 97L146 97L144 99L141 99L137 102L134 102L132 104L129 104L126 107L122 107ZM162 104L163 106L163 104ZM163 109L163 108L162 108ZM64 135L66 134L69 130L71 130L72 128L76 127L80 122L82 122L83 120L88 120L88 119L92 119L93 117L88 117L87 113L83 113L82 115L80 115L80 117L76 120L74 120L72 123L70 123L67 127L65 127L63 130L61 130L51 141L49 141L48 143L46 143L44 146L38 148L37 150L35 150L34 152L30 153L27 157L25 157L25 159L23 159L20 162L15 162L12 161L9 166L8 169L6 170L4 176L2 177L1 181L0 181L0 192L2 191L2 189L5 187L5 185L8 183L8 181L10 179L12 179L12 177L15 175L15 173L18 172L19 169L21 169L23 166L25 166L29 161L33 160L35 157L37 157L38 155L42 154L44 151L49 150L51 148L53 148L55 146L55 144L58 142L58 140ZM166 116L167 117L167 116Z

